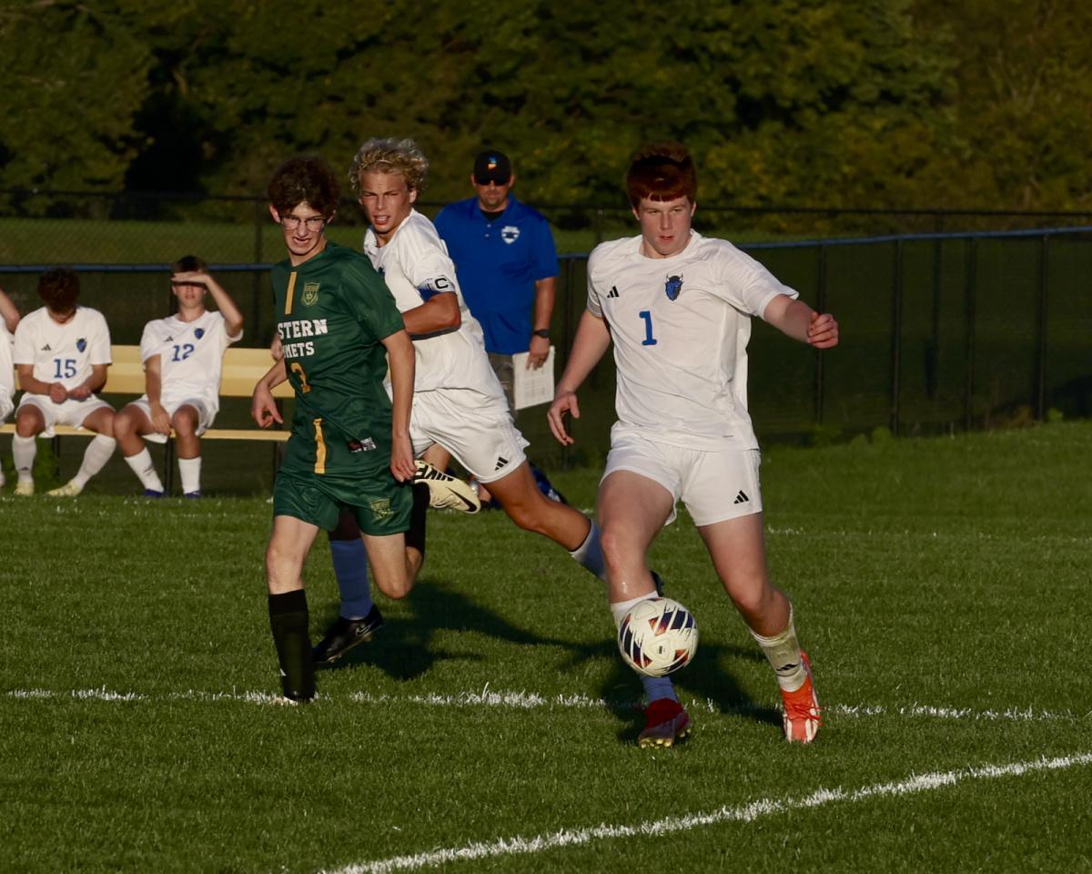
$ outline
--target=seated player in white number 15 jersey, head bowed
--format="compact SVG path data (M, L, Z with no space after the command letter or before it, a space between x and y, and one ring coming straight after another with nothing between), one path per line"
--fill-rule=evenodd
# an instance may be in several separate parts
M95 432L80 470L48 494L74 497L114 453L114 408L96 397L110 366L110 331L97 309L81 307L80 277L71 270L48 270L38 280L45 303L15 329L14 361L23 397L15 410L15 494L34 494L34 438L52 436L55 425Z

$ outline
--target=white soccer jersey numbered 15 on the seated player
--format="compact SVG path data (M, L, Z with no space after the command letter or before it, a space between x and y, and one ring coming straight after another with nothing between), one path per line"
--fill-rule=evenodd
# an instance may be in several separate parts
M97 309L76 307L58 324L41 307L15 329L15 364L34 365L34 378L72 389L91 376L92 365L110 363L110 330Z

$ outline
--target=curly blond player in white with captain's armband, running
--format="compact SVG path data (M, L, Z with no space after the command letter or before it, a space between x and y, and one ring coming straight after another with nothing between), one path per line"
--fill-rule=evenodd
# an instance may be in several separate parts
M501 503L515 524L563 546L581 565L603 577L598 530L582 512L550 500L538 489L523 449L527 441L512 423L505 391L489 364L482 327L459 290L454 264L432 223L413 204L425 182L428 160L413 140L373 139L357 151L349 182L368 216L364 250L394 295L416 355L411 432L414 453L439 445ZM418 468L415 512L407 543L416 572L425 557L425 513L429 494L422 484L450 493L461 481L435 479ZM422 497L423 495L423 497ZM454 498L460 496L456 493ZM465 497L465 495L464 495ZM316 647L317 662L336 660L382 622L371 604L367 566L348 550L359 539L352 520L339 529L347 547L334 553L342 595L341 615ZM339 536L337 534L334 535ZM370 618L369 618L370 617Z

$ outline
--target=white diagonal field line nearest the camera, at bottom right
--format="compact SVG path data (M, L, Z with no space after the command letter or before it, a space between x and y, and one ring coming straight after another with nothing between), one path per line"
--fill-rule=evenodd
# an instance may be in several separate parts
M637 825L606 823L590 828L566 829L550 835L536 835L531 838L500 838L484 843L467 843L462 847L441 848L413 855L395 855L379 859L373 862L361 862L346 865L334 871L323 871L320 874L388 874L393 871L416 871L423 867L435 867L449 862L464 862L475 859L492 859L502 855L532 855L563 847L580 847L598 840L612 840L634 836L655 837L679 831L690 831L701 826L721 823L750 823L762 816L785 814L792 811L807 811L835 802L854 803L874 798L911 795L918 792L946 787L953 787L968 780L989 780L999 777L1022 777L1028 773L1048 770L1066 770L1092 765L1092 753L1080 753L1073 756L1058 758L1040 758L1032 761L1017 761L1011 765L984 765L977 768L961 768L952 771L934 771L933 773L911 775L904 780L889 783L875 783L859 789L818 789L803 798L759 799L735 807L727 805L709 813L689 814L687 816L668 816L663 819L646 819Z

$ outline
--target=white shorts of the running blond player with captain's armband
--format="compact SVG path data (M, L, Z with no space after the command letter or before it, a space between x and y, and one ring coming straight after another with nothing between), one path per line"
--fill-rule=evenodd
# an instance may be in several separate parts
M503 395L472 389L438 389L413 395L413 451L439 444L478 482L492 483L520 466L530 446L512 423Z

